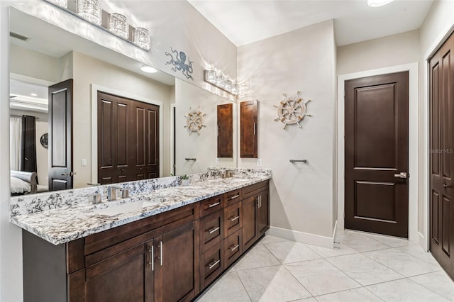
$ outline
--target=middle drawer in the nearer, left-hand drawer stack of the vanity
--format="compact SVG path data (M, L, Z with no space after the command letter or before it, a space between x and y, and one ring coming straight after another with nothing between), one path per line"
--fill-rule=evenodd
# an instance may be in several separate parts
M217 211L200 220L200 253L218 245L223 239L223 211Z

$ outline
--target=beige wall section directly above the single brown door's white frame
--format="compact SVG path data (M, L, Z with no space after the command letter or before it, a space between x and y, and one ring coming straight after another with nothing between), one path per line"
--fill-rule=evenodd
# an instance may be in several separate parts
M419 62L419 30L338 47L337 74Z

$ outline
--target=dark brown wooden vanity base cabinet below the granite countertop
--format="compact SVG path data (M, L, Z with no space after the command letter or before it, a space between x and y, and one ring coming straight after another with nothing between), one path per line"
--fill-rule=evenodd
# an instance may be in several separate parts
M23 230L24 301L191 301L269 217L262 181L64 245Z

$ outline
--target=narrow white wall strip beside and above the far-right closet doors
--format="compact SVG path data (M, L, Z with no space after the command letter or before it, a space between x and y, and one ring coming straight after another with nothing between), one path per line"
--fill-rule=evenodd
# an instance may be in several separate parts
M454 27L454 1L434 1L420 30L420 77L419 77L419 182L421 184L418 200L418 230L420 243L428 247L428 67L431 57Z

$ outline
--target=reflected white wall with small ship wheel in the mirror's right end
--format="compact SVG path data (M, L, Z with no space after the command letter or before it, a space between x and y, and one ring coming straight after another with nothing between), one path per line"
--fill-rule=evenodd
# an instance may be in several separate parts
M207 167L214 167L217 155L217 106L228 104L231 101L212 94L209 91L200 89L197 86L188 84L179 79L175 80L175 131L177 133L176 152L176 172L177 175L206 172ZM200 134L184 128L189 108L196 109L205 113L204 125ZM236 167L237 157L237 114L236 104L233 104L233 157L220 158L220 167ZM196 158L196 161L187 161L185 158Z

